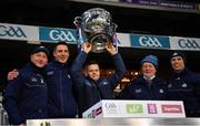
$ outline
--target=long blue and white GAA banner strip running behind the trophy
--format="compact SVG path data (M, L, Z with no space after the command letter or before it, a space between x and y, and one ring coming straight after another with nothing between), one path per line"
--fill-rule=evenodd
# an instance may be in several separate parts
M0 23L0 39L77 44L77 30ZM126 48L200 51L200 39L197 38L117 33L117 39L118 45Z

